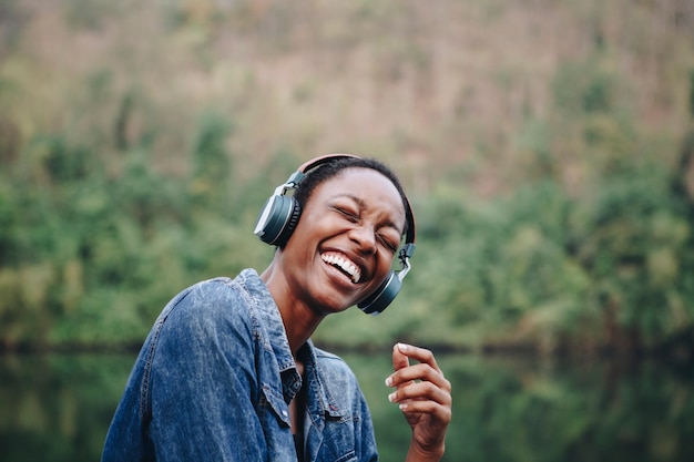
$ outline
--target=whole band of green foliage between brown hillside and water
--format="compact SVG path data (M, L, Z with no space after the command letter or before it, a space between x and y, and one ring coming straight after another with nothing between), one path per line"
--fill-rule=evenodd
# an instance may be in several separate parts
M252 224L267 178L278 183L296 160L278 153L235 185L223 147L228 125L206 121L191 161L207 195L157 173L144 147L122 153L113 176L59 136L29 144L0 195L6 346L137 342L176 290L262 269L271 251ZM414 198L418 251L395 306L378 322L360 314L328 320L317 339L547 351L662 343L694 322L691 266L680 258L692 224L672 175L641 156L596 172L600 187L573 196L547 177L484 202L442 184ZM35 187L19 194L20 182ZM239 204L228 204L235 191ZM339 333L345 326L349 336Z

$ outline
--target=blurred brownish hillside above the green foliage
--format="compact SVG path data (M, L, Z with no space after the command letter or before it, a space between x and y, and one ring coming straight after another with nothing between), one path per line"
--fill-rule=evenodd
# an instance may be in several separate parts
M639 130L688 123L683 0L4 3L6 152L60 131L109 158L146 138L181 173L185 127L215 111L244 170L283 150L356 151L397 162L416 188L465 178L491 194L532 161L519 138L558 94L604 83L593 91ZM581 153L553 143L575 181Z

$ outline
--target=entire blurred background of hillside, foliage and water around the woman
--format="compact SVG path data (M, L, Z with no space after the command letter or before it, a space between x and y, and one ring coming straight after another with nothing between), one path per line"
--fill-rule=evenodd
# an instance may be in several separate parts
M0 0L7 460L96 460L166 301L262 270L263 203L336 152L418 224L392 306L315 336L382 460L394 341L448 367L447 461L694 459L690 0Z

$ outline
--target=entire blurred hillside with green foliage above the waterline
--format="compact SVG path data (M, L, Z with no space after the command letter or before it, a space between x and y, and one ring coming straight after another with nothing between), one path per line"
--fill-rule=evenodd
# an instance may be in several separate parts
M43 18L86 55L62 66L70 60L34 43L39 10L2 3L20 29L0 34L0 345L139 342L183 287L262 270L272 249L252 235L258 209L324 146L365 146L401 167L418 250L394 307L377 320L328 319L318 339L631 351L694 329L692 157L676 147L691 122L678 117L692 110L675 103L692 83L681 32L644 6L622 23L610 4L568 2L552 8L590 25L567 44L581 52L558 52L535 74L525 60L502 64L507 44L488 44L500 54L472 53L451 72L457 53L436 43L468 42L439 37L440 20L503 29L519 11L358 2L336 20L314 7L296 11L319 25L295 27L286 6L137 6L147 19L137 22L127 7L72 1ZM552 8L543 14L562 24ZM354 30L345 17L359 19ZM144 25L154 18L169 22ZM627 29L615 37L609 21L657 23L653 48L672 43L672 62ZM487 61L496 64L482 71ZM312 72L297 79L305 62ZM659 71L640 79L623 62Z

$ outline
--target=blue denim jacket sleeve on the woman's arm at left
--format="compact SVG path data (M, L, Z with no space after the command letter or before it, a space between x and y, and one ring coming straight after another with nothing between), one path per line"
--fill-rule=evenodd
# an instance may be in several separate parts
M227 285L208 283L162 320L142 384L157 461L271 459L256 408L253 328L239 305Z

